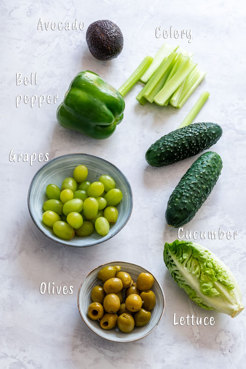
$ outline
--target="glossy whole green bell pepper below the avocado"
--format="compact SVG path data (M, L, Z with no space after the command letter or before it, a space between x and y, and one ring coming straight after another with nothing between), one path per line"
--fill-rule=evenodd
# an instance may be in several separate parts
M121 94L96 73L77 74L56 111L58 123L88 137L110 137L123 119L125 101Z

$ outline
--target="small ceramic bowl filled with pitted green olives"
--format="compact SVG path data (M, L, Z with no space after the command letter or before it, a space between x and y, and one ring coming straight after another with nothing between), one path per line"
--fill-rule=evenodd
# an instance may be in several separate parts
M132 342L152 332L164 313L162 287L140 265L114 261L93 269L79 287L79 313L98 336Z

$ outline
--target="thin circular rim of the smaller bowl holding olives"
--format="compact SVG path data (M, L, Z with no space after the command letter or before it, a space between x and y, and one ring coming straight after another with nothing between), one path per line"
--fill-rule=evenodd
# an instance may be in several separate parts
M79 293L80 293L80 289L81 289L81 287L82 287L83 283L85 282L85 280L87 279L87 277L89 277L89 275L90 275L91 273L93 273L93 272L94 272L94 270L96 270L97 268L100 268L100 267L107 266L107 265L112 264L112 263L114 263L115 265L120 265L121 263L124 263L124 264L131 264L131 265L134 265L134 266L138 266L138 267L140 267L140 268L142 268L142 269L145 269L145 270L146 270L146 273L149 273L149 274L151 274L151 275L154 277L154 280L156 281L157 285L158 285L158 286L159 286L159 288L160 288L160 291L161 291L161 293L162 293L162 298L163 298L163 310L162 310L162 314L160 315L160 318L159 318L158 322L155 324L155 326L152 328L152 330L151 330L151 331L149 331L148 333L146 333L145 335L143 335L142 337L135 338L135 339L128 339L127 341L120 341L120 340L118 340L118 339L106 338L106 337L104 337L103 335L98 334L96 331L94 331L94 330L93 330L93 328L91 328L91 327L90 327L90 325L89 325L89 324L87 324L87 322L86 322L86 321L84 320L84 318L83 318L82 311L80 310L80 306L79 306ZM165 310L166 303L165 303L165 296L164 296L164 292L163 292L162 286L160 285L160 283L158 282L158 280L156 279L156 277L153 275L153 273L149 272L149 270L148 270L148 269L144 268L144 267L143 267L143 266L141 266L141 265L134 264L134 263L130 263L130 262L126 262L126 261L110 261L110 262L107 262L107 263L104 263L104 264L98 265L96 268L92 269L92 270L91 270L91 272L90 272L90 273L88 273L86 277L84 277L84 279L83 279L82 283L81 283L81 284L80 284L80 286L79 286L79 291L78 291L78 295L77 295L77 305L78 305L78 309L79 309L80 316L82 317L82 319L83 319L84 323L85 323L85 324L87 325L87 327L89 327L89 328L90 328L90 330L91 330L91 331L93 331L93 332L94 332L98 337L101 337L101 338L107 339L108 341L111 341L111 342L126 343L126 342L134 342L134 341L138 341L139 339L142 339L142 338L144 338L144 337L148 336L148 335L149 335L149 334L150 334L150 333L151 333L151 332L152 332L152 331L157 327L157 325L160 323L160 321L161 321L161 319L162 319L162 317L163 317L163 314L164 314L164 310Z

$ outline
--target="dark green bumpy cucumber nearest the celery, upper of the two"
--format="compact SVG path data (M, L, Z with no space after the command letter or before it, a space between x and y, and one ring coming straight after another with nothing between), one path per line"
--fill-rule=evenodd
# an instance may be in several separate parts
M216 144L222 128L216 123L193 123L158 139L146 151L151 166L165 166L190 158Z

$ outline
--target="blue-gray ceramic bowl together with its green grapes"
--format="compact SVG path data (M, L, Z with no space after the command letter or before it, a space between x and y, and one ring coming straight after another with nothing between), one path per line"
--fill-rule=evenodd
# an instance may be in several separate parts
M87 247L125 226L132 212L132 190L112 163L95 155L67 154L48 161L34 175L28 209L48 238Z

